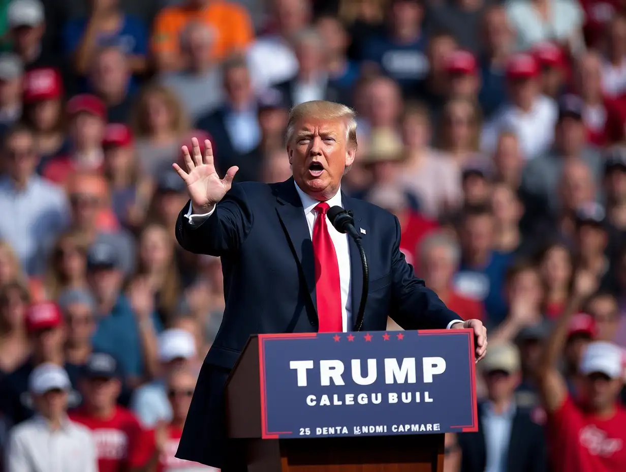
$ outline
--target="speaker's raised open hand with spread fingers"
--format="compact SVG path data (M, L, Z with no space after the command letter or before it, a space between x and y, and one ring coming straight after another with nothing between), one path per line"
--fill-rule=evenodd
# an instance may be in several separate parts
M180 165L173 164L178 175L185 181L187 185L187 193L192 201L192 209L194 213L208 213L215 204L220 201L226 192L230 190L233 177L239 170L239 167L233 165L227 170L223 179L215 172L213 165L213 149L211 142L207 139L204 142L205 153L204 159L200 152L200 143L196 138L192 138L192 155L189 154L187 146L183 146L183 157L187 172L181 169Z

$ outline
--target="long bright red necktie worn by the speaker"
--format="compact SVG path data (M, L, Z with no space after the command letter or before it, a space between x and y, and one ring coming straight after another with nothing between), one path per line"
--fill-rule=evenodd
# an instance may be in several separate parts
M319 203L315 210L317 218L313 225L313 253L315 256L317 317L319 332L342 332L341 281L335 245L326 224L326 202Z

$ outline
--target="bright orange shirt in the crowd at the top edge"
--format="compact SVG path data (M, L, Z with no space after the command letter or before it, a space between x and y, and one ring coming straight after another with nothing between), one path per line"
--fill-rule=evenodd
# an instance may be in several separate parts
M151 47L154 53L179 50L181 31L190 21L201 21L213 32L213 58L222 60L252 42L254 29L244 7L223 0L212 1L206 8L176 5L163 8L156 15Z

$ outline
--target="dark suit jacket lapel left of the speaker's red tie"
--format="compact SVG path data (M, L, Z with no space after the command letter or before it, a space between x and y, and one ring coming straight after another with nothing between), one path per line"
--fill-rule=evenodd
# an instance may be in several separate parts
M295 190L293 177L277 186L276 211L287 234L289 245L297 258L309 291L310 300L317 313L315 258L309 226L304 216L302 201ZM315 320L317 323L317 320Z

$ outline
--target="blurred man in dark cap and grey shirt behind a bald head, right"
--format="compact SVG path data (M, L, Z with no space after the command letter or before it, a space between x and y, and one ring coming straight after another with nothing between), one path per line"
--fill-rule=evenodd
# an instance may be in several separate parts
M558 181L569 161L581 161L591 170L594 181L602 175L600 152L587 145L583 123L584 105L575 95L565 95L559 102L558 120L552 150L528 163L522 185L526 191L548 201L552 211L558 210Z

